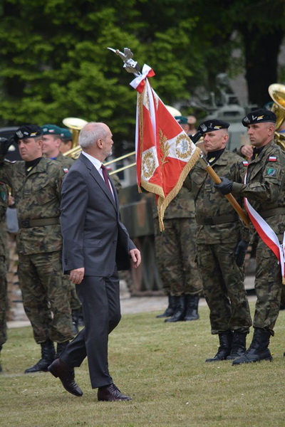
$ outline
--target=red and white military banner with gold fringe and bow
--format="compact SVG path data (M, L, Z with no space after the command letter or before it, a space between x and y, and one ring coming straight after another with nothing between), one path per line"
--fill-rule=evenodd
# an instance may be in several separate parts
M152 75L155 75L152 69L144 65L142 75L130 85L138 90L135 132L138 186L156 195L160 230L163 230L165 209L180 191L201 150L151 88L147 77Z

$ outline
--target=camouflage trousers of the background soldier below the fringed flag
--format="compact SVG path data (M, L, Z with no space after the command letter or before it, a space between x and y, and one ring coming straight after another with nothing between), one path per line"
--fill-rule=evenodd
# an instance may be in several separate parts
M196 258L195 218L164 220L160 232L155 221L155 253L157 268L167 295L197 295L202 291Z

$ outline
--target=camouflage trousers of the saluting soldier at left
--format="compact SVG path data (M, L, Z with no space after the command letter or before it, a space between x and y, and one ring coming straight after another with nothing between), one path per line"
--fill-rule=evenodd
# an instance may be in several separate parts
M18 275L24 310L36 342L72 339L69 289L63 280L61 252L20 253Z

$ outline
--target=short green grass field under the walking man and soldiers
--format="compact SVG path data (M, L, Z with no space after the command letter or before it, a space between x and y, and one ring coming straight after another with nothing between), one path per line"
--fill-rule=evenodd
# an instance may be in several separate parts
M109 364L130 402L98 402L86 361L76 369L82 397L49 373L23 374L40 349L30 327L9 330L1 352L0 426L285 426L285 312L271 339L273 362L237 367L204 362L217 352L218 339L209 333L208 308L199 313L199 321L176 324L155 319L157 312L123 317L110 334Z

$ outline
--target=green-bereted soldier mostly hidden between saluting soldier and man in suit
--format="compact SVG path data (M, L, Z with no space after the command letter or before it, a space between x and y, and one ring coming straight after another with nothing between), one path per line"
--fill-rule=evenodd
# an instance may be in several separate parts
M43 154L47 159L56 160L61 164L65 172L73 165L74 159L63 156L60 152L62 144L62 128L56 125L43 125L41 126L43 134ZM78 320L81 315L81 302L77 296L76 288L67 275L63 276L66 285L70 289L69 302L71 305L71 317L73 324L73 334L78 334Z

